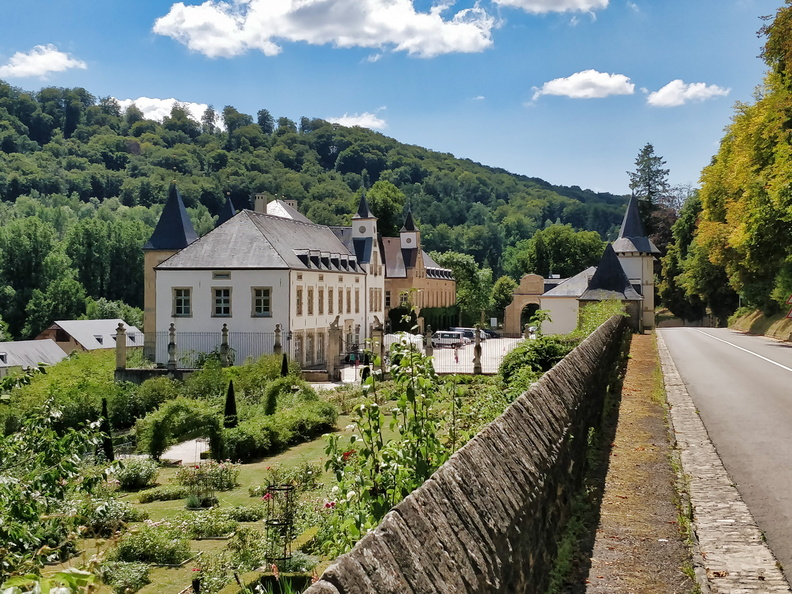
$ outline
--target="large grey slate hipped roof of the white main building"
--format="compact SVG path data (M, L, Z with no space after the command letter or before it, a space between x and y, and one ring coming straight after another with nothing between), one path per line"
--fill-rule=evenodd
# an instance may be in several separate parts
M157 270L218 268L360 272L355 255L329 227L252 210L240 211L157 266Z

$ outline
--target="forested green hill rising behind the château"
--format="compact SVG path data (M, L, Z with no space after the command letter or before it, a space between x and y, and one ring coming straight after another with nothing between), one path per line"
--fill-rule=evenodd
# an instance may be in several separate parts
M82 88L26 92L0 81L0 250L7 261L25 242L49 246L18 270L0 265L0 291L15 304L2 315L14 334L30 317L22 309L33 289L53 282L44 278L51 252L67 258L53 270L75 270L87 295L138 305L142 283L127 252L150 234L172 180L199 233L212 228L226 196L249 208L258 192L297 200L317 223L348 223L365 188L383 233L398 231L409 204L427 250L469 254L496 278L524 272L514 246L551 223L613 236L626 203L320 119L226 106L199 122L176 105L157 122ZM40 228L20 223L31 218ZM109 223L110 235L100 229ZM129 270L126 288L107 269L113 258Z

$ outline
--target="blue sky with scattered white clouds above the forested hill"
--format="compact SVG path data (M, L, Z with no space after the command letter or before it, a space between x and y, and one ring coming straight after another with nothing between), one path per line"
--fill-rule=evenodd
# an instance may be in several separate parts
M365 126L629 193L647 143L698 185L782 0L2 0L0 79L161 118L226 105Z

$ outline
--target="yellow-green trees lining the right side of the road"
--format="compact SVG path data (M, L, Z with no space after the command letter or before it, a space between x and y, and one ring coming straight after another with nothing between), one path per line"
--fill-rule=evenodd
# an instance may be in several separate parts
M675 224L661 295L677 315L774 314L792 294L792 2L759 31L769 70L739 103Z

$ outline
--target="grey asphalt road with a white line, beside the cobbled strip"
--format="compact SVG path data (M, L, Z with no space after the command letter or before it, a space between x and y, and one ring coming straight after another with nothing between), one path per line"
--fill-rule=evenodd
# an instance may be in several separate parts
M792 344L725 328L663 328L726 470L792 575Z

